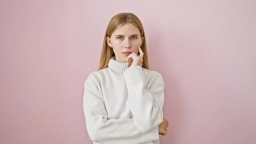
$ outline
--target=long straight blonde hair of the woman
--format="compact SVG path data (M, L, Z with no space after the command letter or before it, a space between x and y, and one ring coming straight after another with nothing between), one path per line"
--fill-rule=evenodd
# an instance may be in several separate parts
M133 13L119 13L111 18L106 28L98 70L102 70L103 68L108 67L109 60L112 56L115 56L113 49L108 46L106 38L111 37L115 30L125 25L126 23L132 23L136 28L139 29L141 37L144 37L144 42L141 44L141 50L144 53L142 67L149 69L146 38L141 20L139 20L139 18Z

